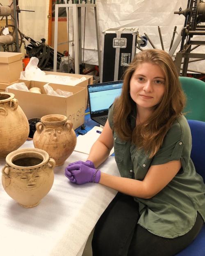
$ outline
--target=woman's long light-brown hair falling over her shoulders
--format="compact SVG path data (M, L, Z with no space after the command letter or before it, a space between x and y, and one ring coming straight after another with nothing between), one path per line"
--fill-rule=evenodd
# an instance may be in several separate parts
M164 72L164 96L155 106L150 118L132 130L129 115L136 107L136 103L130 97L130 79L134 71L144 62L158 65ZM121 96L114 102L113 130L122 140L132 141L152 158L162 145L172 123L182 114L185 102L185 94L169 54L157 49L144 50L135 55L125 71Z

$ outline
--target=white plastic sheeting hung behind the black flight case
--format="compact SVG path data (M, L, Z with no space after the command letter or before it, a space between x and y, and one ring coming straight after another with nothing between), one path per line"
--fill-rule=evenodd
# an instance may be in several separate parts
M181 33L185 23L185 16L174 14L180 7L187 8L187 0L96 0L98 27L100 34L100 50L102 31L113 27L138 27L139 33L148 37L153 42L154 46L162 49L158 26L161 29L164 49L169 52L171 38L174 27L177 26L177 34ZM72 10L69 10L69 36L70 40L73 38L72 27ZM82 8L82 40L84 38L84 10ZM201 39L202 37L194 37L194 39ZM82 42L83 47L83 42ZM112 46L111 46L112 47ZM97 43L96 43L96 29L94 9L86 9L85 19L85 43L84 43L84 62L88 64L98 64ZM147 48L153 48L150 43ZM179 50L179 47L177 51ZM72 46L70 44L70 55L72 56ZM204 53L204 46L198 47L193 53ZM83 56L83 55L82 55ZM189 64L190 69L205 71L204 62L193 62Z

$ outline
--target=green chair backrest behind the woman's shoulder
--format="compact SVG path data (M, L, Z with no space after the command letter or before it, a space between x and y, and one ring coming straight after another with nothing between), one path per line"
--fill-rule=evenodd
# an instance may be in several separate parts
M187 105L183 110L185 117L205 122L205 82L189 77L179 78L187 96Z

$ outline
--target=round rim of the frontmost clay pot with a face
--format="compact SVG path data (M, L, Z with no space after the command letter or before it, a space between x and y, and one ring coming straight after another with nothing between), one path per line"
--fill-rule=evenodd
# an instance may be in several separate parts
M13 160L21 159L23 157L19 157L20 155L25 155L25 157L28 157L32 154L34 154L34 157L40 157L43 158L42 162L38 165L32 165L32 166L20 166L20 165L14 165L12 162ZM30 169L37 169L39 167L42 167L43 165L46 165L46 163L49 161L49 155L46 151L42 149L35 149L35 148L26 148L26 149L17 149L15 151L12 151L9 153L6 157L7 165L14 169L22 169L22 170L30 170Z

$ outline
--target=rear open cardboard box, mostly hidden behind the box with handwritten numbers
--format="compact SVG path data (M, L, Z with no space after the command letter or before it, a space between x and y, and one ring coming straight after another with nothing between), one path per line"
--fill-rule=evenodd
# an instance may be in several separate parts
M46 73L46 75L62 75L62 76L72 76L74 78L82 78L82 77L85 77L86 80L82 81L82 82L79 82L77 85L75 86L78 86L78 87L83 87L85 88L85 109L87 109L89 107L89 102L88 102L88 91L87 91L87 86L88 85L92 85L93 84L93 76L92 75L80 75L80 74L72 74L72 73L61 73L61 72L52 72L52 71L43 71ZM25 82L26 80L19 80L20 82ZM52 81L51 81L52 82ZM56 81L55 81L56 82ZM60 81L59 83L56 82L56 84L60 84ZM49 85L50 85L50 82L49 82ZM70 85L70 86L73 86L73 85ZM75 87L74 86L74 87Z

